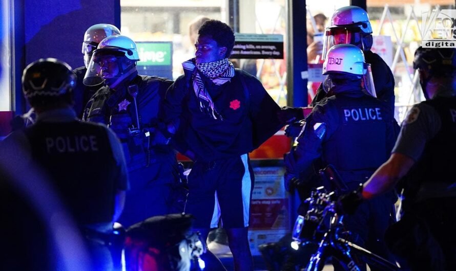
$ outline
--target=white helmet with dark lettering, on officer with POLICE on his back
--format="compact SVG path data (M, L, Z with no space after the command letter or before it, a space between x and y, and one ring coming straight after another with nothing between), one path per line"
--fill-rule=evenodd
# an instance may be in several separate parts
M352 44L338 44L331 47L323 63L323 89L328 92L333 86L334 79L360 80L360 87L372 97L377 97L370 64L365 62L364 53Z

